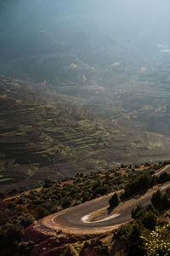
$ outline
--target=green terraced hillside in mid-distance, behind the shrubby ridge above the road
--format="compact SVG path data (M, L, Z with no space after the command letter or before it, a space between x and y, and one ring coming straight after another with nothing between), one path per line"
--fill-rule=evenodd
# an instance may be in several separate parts
M133 111L115 104L110 119L102 118L107 104L94 115L85 100L0 77L1 188L31 189L45 177L105 170L117 162L168 160L167 137L144 131Z

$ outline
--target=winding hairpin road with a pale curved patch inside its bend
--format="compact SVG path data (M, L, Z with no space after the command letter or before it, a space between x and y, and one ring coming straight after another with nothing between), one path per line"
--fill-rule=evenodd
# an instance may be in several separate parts
M161 172L170 172L170 165L163 167L159 172L156 172L156 175L161 174ZM97 234L115 230L120 225L131 220L133 207L139 203L142 205L148 204L151 195L156 192L158 188L164 191L170 188L170 182L156 185L143 195L136 195L127 201L123 201L107 218L99 219L98 221L88 221L88 217L93 212L107 208L109 206L109 199L113 193L92 201L87 201L77 207L71 207L61 212L48 215L39 220L38 225L39 227L46 227L50 230L62 230L70 234ZM120 193L120 191L117 191L117 193Z

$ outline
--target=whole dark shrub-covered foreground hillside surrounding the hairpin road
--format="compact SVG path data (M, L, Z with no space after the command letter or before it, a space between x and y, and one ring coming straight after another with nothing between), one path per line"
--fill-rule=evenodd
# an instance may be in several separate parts
M169 207L170 193L166 190L164 195L157 190L152 195L151 204L137 205L132 211L133 223L122 226L119 230L101 235L66 235L59 230L52 232L45 227L41 230L32 226L36 220L47 216L49 213L59 212L62 209L76 206L84 201L89 201L106 195L117 189L135 188L142 178L151 181L151 175L168 162L155 165L135 165L116 167L108 171L91 172L84 175L78 172L72 179L65 182L52 182L46 179L42 188L24 192L3 199L0 202L0 248L3 255L24 253L25 255L51 255L50 253L63 253L63 255L145 255L152 250L168 254L169 234ZM131 196L143 189L149 189L156 183L170 180L166 172L156 176L154 183L147 186L147 182L140 189L133 189ZM144 192L144 190L143 190ZM122 194L123 195L123 194ZM136 198L136 197L135 197ZM109 200L108 200L109 205ZM166 236L163 234L166 232ZM161 241L156 240L160 234ZM10 246L8 246L10 244ZM43 248L46 249L43 249ZM70 254L67 254L67 253ZM39 253L39 254L38 254ZM74 254L76 253L76 254ZM83 254L84 253L84 254ZM124 254L122 254L124 253ZM164 254L163 254L164 253ZM167 253L167 254L166 254ZM52 254L53 255L53 254Z

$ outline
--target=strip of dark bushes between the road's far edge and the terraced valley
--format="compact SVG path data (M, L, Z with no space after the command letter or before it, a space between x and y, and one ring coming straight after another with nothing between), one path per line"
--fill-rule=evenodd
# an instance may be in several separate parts
M140 175L153 173L156 169L164 166L166 163L160 163L140 169L139 166L122 166L116 169L90 172L82 172L65 182L52 182L46 179L42 189L31 190L29 193L22 193L20 196L13 197L8 201L2 200L0 210L0 247L6 248L11 252L17 250L18 243L23 236L24 228L31 224L35 219L47 216L50 213L59 212L67 207L76 206L84 201L89 201L99 195L106 195L119 189L123 189L131 180L138 179ZM17 228L16 228L17 226ZM14 236L16 234L16 236ZM31 245L32 246L32 245ZM12 254L11 254L12 255Z

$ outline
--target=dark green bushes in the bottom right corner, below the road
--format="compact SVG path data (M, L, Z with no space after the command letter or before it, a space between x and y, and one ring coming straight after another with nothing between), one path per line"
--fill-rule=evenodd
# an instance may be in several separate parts
M161 207L157 207L160 198ZM169 189L164 194L158 190L152 195L151 202L144 207L135 207L132 211L133 223L116 231L116 239L122 242L123 255L170 255ZM168 222L160 218L165 211Z

